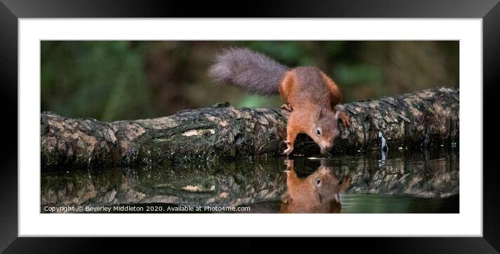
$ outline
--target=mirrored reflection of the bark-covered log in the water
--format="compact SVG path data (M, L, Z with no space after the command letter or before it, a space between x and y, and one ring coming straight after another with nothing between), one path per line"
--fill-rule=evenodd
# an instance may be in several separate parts
M420 153L397 153L387 160L374 159L379 152L373 151L370 156L353 156L342 165L331 164L332 172L339 181L351 177L346 193L417 197L457 195L457 151L437 150L436 154L423 157ZM303 158L295 163L302 172L306 172L307 168L304 163L311 165L311 169L321 165L318 160L316 163L304 162ZM41 175L41 212L47 212L43 209L46 206L101 207L155 203L238 207L261 201L278 201L287 191L284 170L286 165L281 158L256 158L251 162L226 162L212 167L196 162L110 167L107 170L75 169L71 174L50 170Z

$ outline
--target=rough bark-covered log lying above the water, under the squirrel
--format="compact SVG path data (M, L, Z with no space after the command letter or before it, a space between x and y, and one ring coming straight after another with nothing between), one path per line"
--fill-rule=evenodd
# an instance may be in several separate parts
M333 155L380 147L379 133L389 149L453 146L459 140L458 88L346 103L337 109L346 112L352 124L339 126ZM43 112L42 169L281 156L286 148L282 142L286 117L281 110L235 108L228 103L170 117L110 123ZM310 141L307 135L300 135L294 153L318 153Z

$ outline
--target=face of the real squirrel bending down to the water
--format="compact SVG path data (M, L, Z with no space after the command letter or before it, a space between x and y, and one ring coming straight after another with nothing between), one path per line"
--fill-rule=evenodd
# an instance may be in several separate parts
M316 124L313 125L309 136L318 144L321 149L321 154L329 152L333 147L333 142L339 135L339 111L324 112L320 110L316 117Z

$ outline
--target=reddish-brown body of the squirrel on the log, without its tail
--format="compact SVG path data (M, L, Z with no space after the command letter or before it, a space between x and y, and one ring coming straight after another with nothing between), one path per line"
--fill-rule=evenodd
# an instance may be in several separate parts
M279 84L279 94L284 103L281 107L291 111L286 130L288 147L284 154L293 151L293 143L300 133L309 135L321 147L322 153L329 151L339 134L338 119L344 126L351 124L344 112L335 110L335 105L341 101L339 87L316 67L288 70Z

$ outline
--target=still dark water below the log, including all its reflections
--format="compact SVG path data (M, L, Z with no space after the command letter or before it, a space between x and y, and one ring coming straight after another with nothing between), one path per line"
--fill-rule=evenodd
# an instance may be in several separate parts
M51 212L458 213L459 152L48 170L41 213Z

